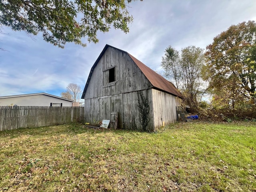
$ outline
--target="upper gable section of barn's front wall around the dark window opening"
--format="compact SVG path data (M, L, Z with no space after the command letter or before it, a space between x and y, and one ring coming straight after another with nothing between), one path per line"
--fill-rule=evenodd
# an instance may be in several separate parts
M107 69L113 66L115 82L107 83ZM109 47L94 68L84 98L100 98L150 87L148 79L127 53Z

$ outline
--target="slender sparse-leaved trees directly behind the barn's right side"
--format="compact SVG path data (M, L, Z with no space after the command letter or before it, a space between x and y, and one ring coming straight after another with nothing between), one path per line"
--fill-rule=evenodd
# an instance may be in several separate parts
M195 46L188 46L178 52L171 46L165 50L162 58L162 67L166 77L174 79L177 88L180 87L185 102L192 111L198 111L203 89L201 70L204 65L203 49Z

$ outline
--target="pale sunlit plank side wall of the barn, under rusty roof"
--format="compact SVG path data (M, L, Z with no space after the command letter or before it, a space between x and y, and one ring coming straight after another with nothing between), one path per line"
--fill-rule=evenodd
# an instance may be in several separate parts
M170 124L177 120L176 116L176 96L152 89L154 127Z

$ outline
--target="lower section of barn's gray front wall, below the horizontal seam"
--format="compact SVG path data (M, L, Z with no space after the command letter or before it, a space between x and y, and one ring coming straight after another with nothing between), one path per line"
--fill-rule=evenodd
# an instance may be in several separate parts
M146 96L146 91L148 91L150 105L148 130L154 131L152 93L151 89L143 90L144 96ZM142 130L137 92L86 99L84 106L85 121L92 125L103 119L111 120L111 113L118 112L118 128Z

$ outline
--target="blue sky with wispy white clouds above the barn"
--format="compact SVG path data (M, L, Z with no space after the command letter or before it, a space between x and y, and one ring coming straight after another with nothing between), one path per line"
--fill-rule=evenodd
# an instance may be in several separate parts
M84 89L90 69L106 44L129 52L161 71L164 50L171 45L206 48L231 25L256 20L255 0L144 0L129 4L130 32L98 32L100 42L64 49L2 27L0 34L0 96L46 92L60 96L69 83ZM86 42L86 40L84 40Z

